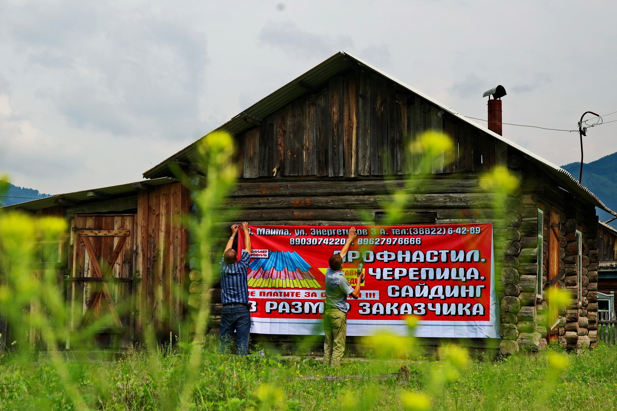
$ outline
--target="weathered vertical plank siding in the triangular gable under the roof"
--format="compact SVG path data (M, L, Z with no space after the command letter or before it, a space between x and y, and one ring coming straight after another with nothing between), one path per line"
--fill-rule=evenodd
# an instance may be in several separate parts
M425 130L452 137L452 162L428 164L421 155L410 155L410 143ZM263 118L236 141L241 178L478 172L507 159L505 143L361 69L332 77L318 91Z

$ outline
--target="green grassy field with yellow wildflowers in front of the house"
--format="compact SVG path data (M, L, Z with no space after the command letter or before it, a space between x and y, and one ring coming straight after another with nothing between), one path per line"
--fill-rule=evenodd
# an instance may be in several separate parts
M611 410L617 350L557 349L507 359L349 359L340 368L312 358L221 355L204 349L186 409L203 410ZM178 409L188 355L131 352L113 362L70 362L68 380L51 363L0 367L0 409L74 409L67 381L87 409ZM408 378L399 377L402 365Z

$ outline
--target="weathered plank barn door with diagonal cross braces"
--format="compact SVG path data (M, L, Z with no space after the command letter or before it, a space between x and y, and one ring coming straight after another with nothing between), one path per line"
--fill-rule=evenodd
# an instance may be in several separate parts
M102 347L126 347L133 330L135 215L75 215L70 293L73 346L92 326ZM67 346L70 347L70 341Z

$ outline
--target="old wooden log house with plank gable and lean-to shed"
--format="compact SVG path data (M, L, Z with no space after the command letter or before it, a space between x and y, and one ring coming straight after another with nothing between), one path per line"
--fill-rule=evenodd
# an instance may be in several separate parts
M392 190L412 187L417 195L399 223L492 222L499 232L495 239L503 244L494 244L495 278L501 303L498 343L504 354L521 347L539 349L547 341L568 349L597 343L595 207L617 214L560 167L344 52L218 130L228 131L238 147L238 184L230 196L230 203L241 207L238 220L379 224ZM423 170L422 156L407 155L409 144L425 130L443 131L453 139L452 162L426 170L425 159ZM190 173L198 161L196 142L144 173L146 181L99 190L105 197L80 192L12 208L64 215L71 222L62 269L73 284L97 275L84 268L91 257L78 251L83 241L77 238L84 230L130 231L123 245L127 251L120 251L126 267L113 273L133 279L135 310L125 335L139 334L145 323L154 321L159 336L182 333L178 325L189 307L173 290L199 293L201 284L186 257L190 239L175 220L189 212L190 196L170 179L178 166ZM497 208L479 183L482 173L495 165L507 166L521 180L521 189ZM361 211L371 221L363 221ZM104 241L94 249L100 247L103 259L109 255L111 264L120 264L111 258L111 241ZM568 289L573 303L549 323L542 314L552 286ZM75 298L75 291L67 298ZM213 332L220 310L215 295Z

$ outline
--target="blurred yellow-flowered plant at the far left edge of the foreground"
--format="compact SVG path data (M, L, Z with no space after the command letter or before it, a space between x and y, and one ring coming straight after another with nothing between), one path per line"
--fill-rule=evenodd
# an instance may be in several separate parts
M68 313L60 291L57 268L33 270L35 262L52 260L52 249L39 247L63 240L64 220L33 218L19 212L0 213L0 313L10 324L18 362L31 360L33 344L48 349L52 366L78 410L86 409L77 381L60 355L60 341L68 337ZM37 253L43 253L39 256ZM46 255L47 254L47 255Z

